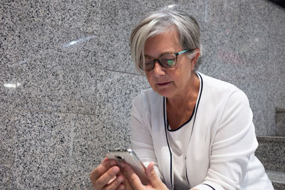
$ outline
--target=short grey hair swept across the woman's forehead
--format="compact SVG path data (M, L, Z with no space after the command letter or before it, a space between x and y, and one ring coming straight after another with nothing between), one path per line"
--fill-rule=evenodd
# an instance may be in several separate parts
M196 19L193 16L186 14L183 11L176 11L177 6L167 6L160 11L153 11L142 17L140 23L133 29L130 36L130 53L135 68L139 72L139 64L145 61L145 43L148 38L156 36L170 30L175 26L179 34L180 46L185 50L200 49L202 55L202 46L200 44L200 28ZM187 52L187 55L192 57L193 51ZM195 64L195 70L200 65L200 60Z

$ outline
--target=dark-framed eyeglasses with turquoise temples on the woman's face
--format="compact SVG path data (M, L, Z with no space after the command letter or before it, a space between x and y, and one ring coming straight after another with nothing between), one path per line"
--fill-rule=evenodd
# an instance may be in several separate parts
M162 68L173 68L177 63L177 56L187 51L188 50L180 51L178 53L163 53L157 59L151 58L150 56L145 56L145 65L140 64L139 67L142 70L150 71L155 68L155 63L158 61Z

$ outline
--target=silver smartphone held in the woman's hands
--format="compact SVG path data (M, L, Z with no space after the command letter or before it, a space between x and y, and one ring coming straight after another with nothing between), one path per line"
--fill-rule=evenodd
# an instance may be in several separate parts
M110 149L106 154L108 159L115 159L118 162L118 166L120 166L120 162L126 162L130 164L135 171L135 174L138 175L142 184L150 184L145 174L145 165L142 164L137 154L132 149Z

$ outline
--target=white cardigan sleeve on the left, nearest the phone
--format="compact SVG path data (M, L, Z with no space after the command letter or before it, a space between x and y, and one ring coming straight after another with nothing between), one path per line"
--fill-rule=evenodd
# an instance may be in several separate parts
M150 134L150 119L142 117L142 112L149 113L145 104L141 103L138 97L133 100L133 106L130 112L130 127L131 127L131 143L133 150L141 159L142 163L147 167L150 162L154 162L155 171L160 179L162 175L157 167L157 158L153 147L152 137ZM140 107L140 111L137 107ZM145 116L147 117L147 116Z

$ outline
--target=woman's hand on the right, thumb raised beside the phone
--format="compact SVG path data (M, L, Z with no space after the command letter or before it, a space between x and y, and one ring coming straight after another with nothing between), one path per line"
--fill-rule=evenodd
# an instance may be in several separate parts
M133 171L133 169L130 167L129 164L121 164L121 165L125 170L125 178L128 179L126 189L135 189L135 190L167 189L167 186L165 186L165 184L163 184L160 178L157 176L153 162L150 162L150 164L148 164L146 169L147 177L150 180L150 184L148 185L142 184L140 178L138 177L137 174L135 174L135 171Z

